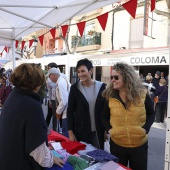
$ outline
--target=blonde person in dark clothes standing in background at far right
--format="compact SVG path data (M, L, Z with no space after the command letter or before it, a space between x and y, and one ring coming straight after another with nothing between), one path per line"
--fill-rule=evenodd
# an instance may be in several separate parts
M155 122L164 123L168 101L168 87L165 79L159 80L159 87L156 89L154 96L158 96L158 102L155 106Z

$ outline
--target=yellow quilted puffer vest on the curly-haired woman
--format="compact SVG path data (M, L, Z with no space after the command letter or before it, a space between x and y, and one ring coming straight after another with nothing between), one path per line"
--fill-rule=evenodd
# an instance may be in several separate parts
M147 141L147 134L143 125L146 122L145 110L146 94L142 95L140 103L131 104L126 110L116 98L109 99L111 139L123 147L138 147Z

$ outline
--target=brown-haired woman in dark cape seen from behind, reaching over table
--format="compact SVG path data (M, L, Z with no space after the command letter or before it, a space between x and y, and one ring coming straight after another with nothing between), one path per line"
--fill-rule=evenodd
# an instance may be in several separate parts
M21 64L10 76L15 86L0 116L0 169L40 170L63 161L47 147L47 127L37 94L45 82L36 64Z

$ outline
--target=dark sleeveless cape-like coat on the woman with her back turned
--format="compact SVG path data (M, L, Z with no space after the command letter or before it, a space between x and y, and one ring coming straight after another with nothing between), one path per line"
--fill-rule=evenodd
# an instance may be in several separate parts
M30 153L46 141L39 95L15 87L0 115L0 170L42 170Z

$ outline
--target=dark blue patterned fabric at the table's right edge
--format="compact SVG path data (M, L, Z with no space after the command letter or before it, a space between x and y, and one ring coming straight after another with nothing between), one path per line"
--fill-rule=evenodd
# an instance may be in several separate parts
M104 161L119 162L119 159L116 156L101 149L90 151L87 153L87 155L94 158L96 162L104 162Z

